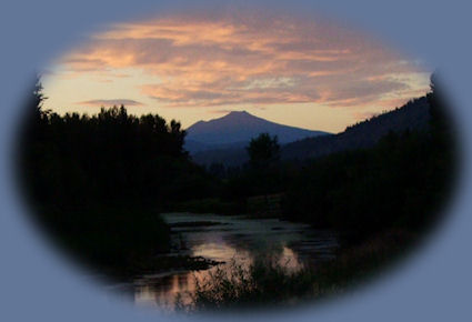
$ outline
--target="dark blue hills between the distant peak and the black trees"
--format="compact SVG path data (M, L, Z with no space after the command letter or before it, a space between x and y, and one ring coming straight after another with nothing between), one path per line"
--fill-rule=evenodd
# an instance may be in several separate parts
M369 148L389 131L423 130L429 124L429 108L428 100L423 97L393 111L348 127L341 133L318 135L283 144L281 159L304 160L338 151ZM235 167L247 162L249 157L244 148L233 148L198 152L192 155L192 159L200 164L222 163L227 167Z

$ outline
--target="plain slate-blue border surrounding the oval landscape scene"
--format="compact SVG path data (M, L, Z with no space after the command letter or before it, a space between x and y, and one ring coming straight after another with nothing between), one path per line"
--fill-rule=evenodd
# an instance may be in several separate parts
M210 1L173 1L171 8ZM215 6L222 1L212 1ZM232 1L241 3L241 1ZM392 48L441 67L455 104L463 164L450 217L401 268L350 298L318 309L278 313L275 321L472 321L471 6L468 1L259 1L261 6L334 19L375 32ZM170 3L170 2L169 2ZM297 6L295 6L297 4ZM30 225L12 177L13 134L21 95L34 67L83 40L104 22L124 21L169 4L151 0L23 1L0 4L0 321L162 321L86 282ZM293 9L297 11L298 9ZM262 314L262 313L261 313ZM215 316L201 316L209 321ZM228 320L260 315L225 315ZM177 319L177 318L173 318ZM220 320L220 319L217 319Z

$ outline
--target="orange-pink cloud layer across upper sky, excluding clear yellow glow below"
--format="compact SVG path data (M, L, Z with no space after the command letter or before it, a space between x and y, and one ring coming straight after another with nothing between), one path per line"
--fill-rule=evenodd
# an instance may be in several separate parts
M164 107L354 107L426 90L414 63L352 30L260 13L118 24L62 62L71 73L109 79L122 69L143 71L155 82L137 87Z

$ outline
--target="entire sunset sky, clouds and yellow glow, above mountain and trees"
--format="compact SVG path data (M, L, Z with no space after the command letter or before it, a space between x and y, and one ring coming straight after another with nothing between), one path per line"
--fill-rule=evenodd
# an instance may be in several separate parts
M420 97L429 70L352 28L260 11L165 14L110 26L46 69L46 108L123 103L187 128L247 110L339 132Z

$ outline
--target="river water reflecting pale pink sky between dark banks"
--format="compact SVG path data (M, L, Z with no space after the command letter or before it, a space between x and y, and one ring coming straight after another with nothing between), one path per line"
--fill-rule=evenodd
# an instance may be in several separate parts
M278 219L248 219L215 214L164 214L172 227L172 253L203 256L247 266L255 258L270 255L289 270L300 270L333 256L335 235L307 224ZM198 224L201 223L201 224ZM134 281L134 302L143 306L172 308L177 294L191 292L205 271L170 271ZM188 301L189 299L187 299ZM185 298L183 298L185 301Z

